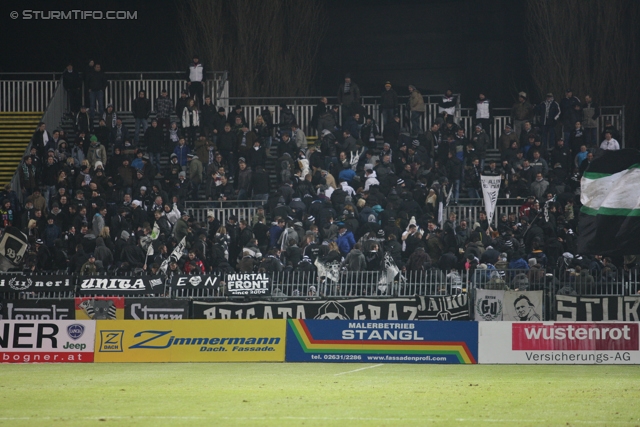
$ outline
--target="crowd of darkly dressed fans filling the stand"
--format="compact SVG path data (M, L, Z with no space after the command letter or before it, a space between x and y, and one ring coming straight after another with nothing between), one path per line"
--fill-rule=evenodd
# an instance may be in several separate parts
M568 90L560 103L547 94L533 105L521 92L512 123L496 130L499 159L488 160L493 120L484 94L471 135L453 119L451 91L423 130L422 95L409 86L410 115L400 117L398 95L387 82L381 131L347 76L340 104L322 98L315 108L310 126L319 137L309 144L284 104L278 123L265 108L252 126L241 106L216 108L202 96L206 73L197 58L188 89L175 102L163 90L150 125L151 102L138 94L131 132L112 106L103 109L106 80L94 73L101 73L98 64L82 78L72 66L65 73L77 136L49 133L42 124L19 166L23 203L9 186L2 194L0 227L18 227L29 239L25 271L155 274L183 238L187 250L169 263L163 272L169 276L312 272L316 260L381 271L385 254L404 272L438 269L462 277L486 269L487 283L498 287L518 285L493 270L530 269L530 281L561 271L563 280L588 275L600 283L637 269L635 257L576 254L580 177L599 151L619 149L611 123L598 138L599 109L588 96L583 103ZM89 108L81 102L83 78ZM161 155L169 153L163 166ZM441 206L481 204L481 175L501 177L499 197L521 204L518 213L498 218L497 227L484 212L472 222L451 213L440 226ZM225 223L210 208L198 222L185 210L192 200L261 207Z

